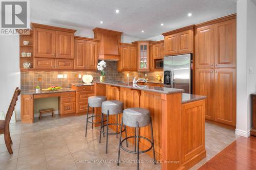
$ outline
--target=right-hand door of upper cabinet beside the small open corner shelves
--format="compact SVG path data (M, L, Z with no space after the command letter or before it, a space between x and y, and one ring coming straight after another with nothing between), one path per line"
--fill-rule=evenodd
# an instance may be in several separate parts
M74 58L74 34L56 31L56 57Z

